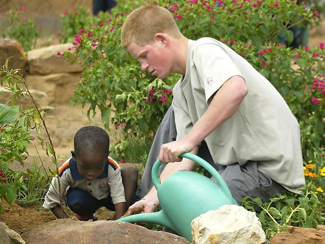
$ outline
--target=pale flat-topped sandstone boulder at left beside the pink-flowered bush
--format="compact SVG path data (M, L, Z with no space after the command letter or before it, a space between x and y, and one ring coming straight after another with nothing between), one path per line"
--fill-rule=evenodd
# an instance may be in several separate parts
M43 48L33 49L27 52L28 70L30 74L49 74L49 73L74 73L81 72L82 67L77 62L72 65L70 62L73 57L64 61L63 53L72 44L55 44Z

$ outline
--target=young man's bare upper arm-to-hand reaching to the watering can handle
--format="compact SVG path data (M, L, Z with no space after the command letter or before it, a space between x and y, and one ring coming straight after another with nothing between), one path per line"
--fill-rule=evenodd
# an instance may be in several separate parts
M191 151L238 109L247 92L241 76L232 76L224 82L189 133L182 139L161 145L159 160L164 163L180 161L180 154Z

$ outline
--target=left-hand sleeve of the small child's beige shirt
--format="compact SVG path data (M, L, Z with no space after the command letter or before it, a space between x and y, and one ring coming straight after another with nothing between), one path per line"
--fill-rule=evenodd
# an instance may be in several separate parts
M59 177L60 179L60 188L61 188L61 200L64 203L64 193L69 185L69 179L68 179L68 172L64 171L62 175ZM46 192L46 195L44 197L44 203L43 207L50 209L53 208L54 206L60 204L60 199L59 199L59 190L58 190L58 180L57 177L52 177L51 183L49 185L49 188Z

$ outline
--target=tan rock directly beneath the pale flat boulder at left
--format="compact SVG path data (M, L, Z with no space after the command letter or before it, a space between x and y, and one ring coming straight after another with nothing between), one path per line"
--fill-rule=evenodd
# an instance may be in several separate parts
M29 88L46 93L48 103L71 103L70 97L80 80L80 73L54 73L48 75L25 74Z

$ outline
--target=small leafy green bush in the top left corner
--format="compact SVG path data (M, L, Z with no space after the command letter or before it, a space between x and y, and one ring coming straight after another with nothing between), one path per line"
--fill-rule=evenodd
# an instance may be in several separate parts
M16 39L22 45L24 51L28 51L35 47L36 39L40 32L40 25L36 27L33 19L25 17L25 12L25 7L2 12L4 22L0 27L2 37Z

